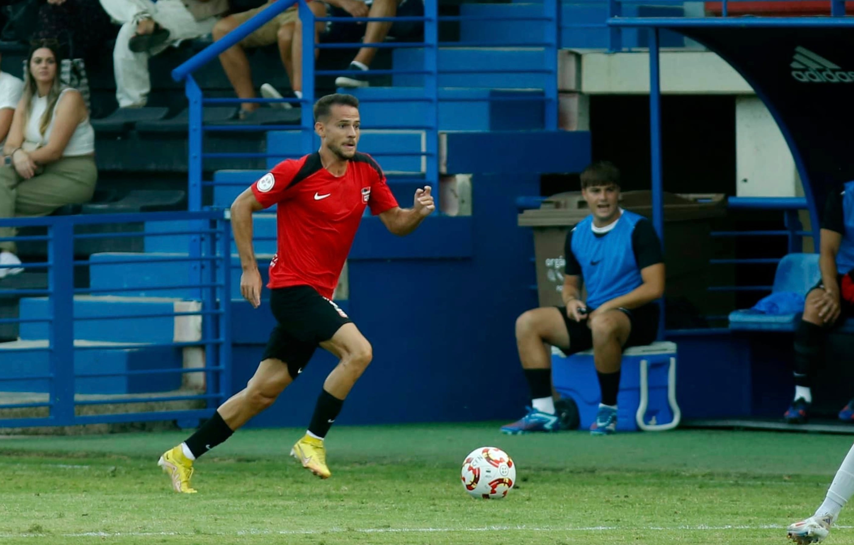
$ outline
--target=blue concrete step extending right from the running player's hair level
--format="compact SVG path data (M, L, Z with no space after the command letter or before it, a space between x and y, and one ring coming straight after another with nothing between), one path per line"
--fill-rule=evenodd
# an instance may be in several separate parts
M465 5L465 4L464 4ZM506 85L505 85L506 86ZM423 87L366 87L347 92L358 97L360 116L372 125L425 126L427 103L395 102L424 97ZM511 97L512 100L501 100ZM530 97L530 100L518 100ZM439 90L440 131L535 131L544 125L544 97L540 90ZM378 159L379 160L379 159Z

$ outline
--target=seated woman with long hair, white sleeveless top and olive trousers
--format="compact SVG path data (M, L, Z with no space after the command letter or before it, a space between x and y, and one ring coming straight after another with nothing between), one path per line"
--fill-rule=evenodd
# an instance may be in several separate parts
M56 43L32 46L0 165L0 219L44 216L87 202L95 191L95 132L79 91L61 84ZM0 227L0 238L15 237ZM20 265L15 243L0 240L0 265ZM0 278L20 273L0 268Z

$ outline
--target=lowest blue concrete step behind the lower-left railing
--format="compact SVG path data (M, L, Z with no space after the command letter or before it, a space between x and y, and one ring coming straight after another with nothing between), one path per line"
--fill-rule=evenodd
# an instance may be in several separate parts
M124 344L124 343L120 343ZM85 375L107 372L144 371L155 369L180 369L183 364L181 349L148 347L110 349L116 343L74 341L75 394L138 394L178 390L181 373L139 374L126 377L91 377ZM50 374L48 341L15 341L0 343L0 379L25 378L7 382L0 380L0 391L49 392L47 379L28 379ZM84 349L85 348L85 349Z

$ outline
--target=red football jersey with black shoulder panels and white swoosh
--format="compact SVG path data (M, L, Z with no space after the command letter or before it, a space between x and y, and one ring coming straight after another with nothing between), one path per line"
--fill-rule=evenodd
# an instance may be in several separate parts
M252 185L264 208L278 204L277 252L268 288L310 285L332 298L365 207L382 214L397 206L383 170L356 153L347 172L333 176L320 154L282 161Z

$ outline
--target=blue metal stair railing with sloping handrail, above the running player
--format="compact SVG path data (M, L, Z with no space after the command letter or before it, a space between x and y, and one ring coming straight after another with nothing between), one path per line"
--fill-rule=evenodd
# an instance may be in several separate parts
M353 49L361 47L363 44L330 44L330 43L314 43L313 32L302 32L302 98L301 99L279 99L270 100L264 98L243 99L243 98L205 98L202 97L202 90L193 79L193 73L206 63L213 61L223 51L231 48L240 40L254 32L271 21L273 17L289 9L291 6L299 6L299 16L303 28L313 28L316 21L319 22L334 22L336 24L353 24L364 23L368 21L412 21L423 22L424 24L424 40L416 43L381 43L370 44L371 47L379 49L386 48L422 48L424 49L424 66L422 69L392 69L392 70L376 70L371 69L366 72L367 75L389 75L389 74L416 74L422 75L424 78L424 94L420 97L385 97L382 99L371 99L370 97L360 98L361 102L409 102L424 104L424 123L418 126L382 126L382 120L363 120L364 128L384 129L384 130L420 130L425 133L424 149L418 152L388 152L383 150L371 151L372 155L382 158L383 156L418 156L424 158L424 183L433 186L434 194L437 194L438 179L439 179L439 87L440 77L443 74L454 73L471 73L471 74L487 74L487 73L543 73L547 76L547 84L543 87L543 96L534 97L488 97L489 101L507 101L526 100L543 102L543 111L545 115L545 128L547 130L556 130L558 124L558 40L559 40L559 2L558 0L544 0L543 15L523 17L525 21L544 21L544 31L541 38L535 37L529 41L519 40L518 44L493 44L480 42L450 42L443 43L439 41L439 22L440 21L507 21L506 17L496 17L488 15L459 15L459 16L438 16L437 0L424 0L424 16L418 17L322 17L315 18L312 11L307 9L306 0L277 0L255 15L249 21L238 26L234 31L225 35L219 41L209 45L204 50L200 51L196 56L189 61L184 62L181 66L173 70L173 79L184 81L185 93L190 102L190 133L189 133L189 208L190 210L202 209L202 185L213 185L202 181L202 162L208 158L275 158L284 160L286 158L296 158L301 155L310 153L314 149L314 131L313 131L313 113L312 104L315 99L314 78L315 76L330 76L348 73L347 70L321 70L318 71L314 67L315 49ZM543 68L528 68L518 67L513 69L490 69L471 67L465 69L445 69L439 66L438 56L439 48L444 46L453 47L507 47L517 45L520 47L539 47L543 50L544 63ZM510 85L512 87L512 85ZM454 102L466 101L481 101L483 98L467 98L454 97ZM237 104L237 103L266 103L266 102L290 102L299 103L301 106L301 124L299 127L294 126L204 126L202 124L202 108L206 105L213 104ZM225 132L225 131L269 131L278 128L294 130L298 128L301 131L301 146L300 149L289 150L286 153L205 153L202 149L202 140L204 132ZM382 163L382 161L380 161ZM419 179L420 181L420 179ZM197 252L196 252L197 253Z

